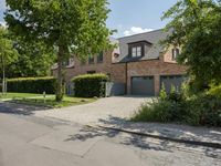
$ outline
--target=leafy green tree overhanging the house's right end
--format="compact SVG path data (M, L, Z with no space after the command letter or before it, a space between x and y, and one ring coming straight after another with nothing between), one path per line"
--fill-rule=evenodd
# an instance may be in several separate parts
M189 66L199 90L221 81L221 3L215 0L179 0L165 12L171 32L165 43L181 48L178 62Z

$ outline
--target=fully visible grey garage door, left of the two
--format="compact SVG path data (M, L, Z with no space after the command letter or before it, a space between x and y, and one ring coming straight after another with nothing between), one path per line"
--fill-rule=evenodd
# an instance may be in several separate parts
M134 95L155 95L154 76L131 77L131 93Z

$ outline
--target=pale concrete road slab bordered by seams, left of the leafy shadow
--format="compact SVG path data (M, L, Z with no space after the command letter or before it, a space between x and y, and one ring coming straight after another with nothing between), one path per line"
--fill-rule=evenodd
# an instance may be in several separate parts
M94 144L103 139L102 136L84 139L77 133L80 128L60 126L60 129L39 137L31 144L83 157Z

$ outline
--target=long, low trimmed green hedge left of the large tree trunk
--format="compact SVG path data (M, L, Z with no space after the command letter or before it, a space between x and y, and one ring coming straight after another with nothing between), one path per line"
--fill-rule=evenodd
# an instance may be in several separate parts
M9 79L8 92L18 93L55 93L56 79L54 77L18 77Z

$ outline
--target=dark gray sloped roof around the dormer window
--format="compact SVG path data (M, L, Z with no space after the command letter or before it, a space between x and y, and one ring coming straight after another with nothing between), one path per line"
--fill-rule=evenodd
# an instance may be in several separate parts
M147 41L148 43L151 43L151 45L149 45L150 48L148 49L148 52L145 54L145 56L140 58L139 60L159 59L160 52L164 51L164 48L160 45L159 42L166 39L167 35L168 33L165 32L162 29L160 29L160 30L155 30L150 32L119 38L118 39L119 56L115 59L114 63L137 61L137 60L128 59L128 44L136 43L139 41Z

